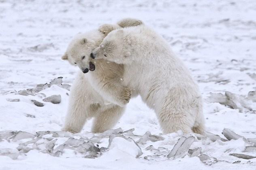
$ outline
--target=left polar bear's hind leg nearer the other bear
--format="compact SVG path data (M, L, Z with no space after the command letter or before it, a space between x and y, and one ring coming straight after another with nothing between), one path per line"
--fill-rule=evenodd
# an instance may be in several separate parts
M113 128L124 114L125 107L106 105L105 108L101 110L102 111L100 111L94 119L92 126L92 132L94 133L105 132Z

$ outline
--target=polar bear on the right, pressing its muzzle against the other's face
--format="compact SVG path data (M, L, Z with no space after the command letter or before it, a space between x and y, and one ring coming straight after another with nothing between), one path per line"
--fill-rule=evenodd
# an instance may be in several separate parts
M123 86L135 89L154 109L164 133L182 130L203 134L197 84L168 43L149 27L111 31L92 52L92 58L124 64Z

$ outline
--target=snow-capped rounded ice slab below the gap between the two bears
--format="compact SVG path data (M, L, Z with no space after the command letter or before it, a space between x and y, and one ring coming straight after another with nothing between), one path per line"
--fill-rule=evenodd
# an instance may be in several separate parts
M132 138L126 138L122 134L111 134L109 136L109 145L107 148L113 149L114 147L135 157L143 154L139 145Z

